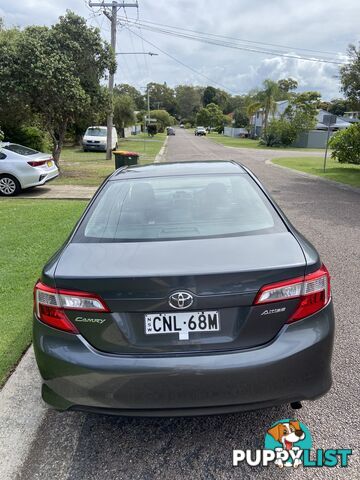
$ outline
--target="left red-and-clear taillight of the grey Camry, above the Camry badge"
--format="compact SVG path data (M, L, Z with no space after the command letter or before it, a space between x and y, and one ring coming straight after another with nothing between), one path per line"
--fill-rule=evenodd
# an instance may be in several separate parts
M34 310L42 322L70 333L79 333L79 331L66 316L66 310L110 311L98 295L58 290L41 282L37 282L34 288Z

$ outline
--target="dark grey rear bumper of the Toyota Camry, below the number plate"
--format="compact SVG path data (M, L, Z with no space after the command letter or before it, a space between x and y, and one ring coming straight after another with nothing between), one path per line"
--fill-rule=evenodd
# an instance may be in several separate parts
M251 350L121 356L96 351L81 336L34 319L48 404L134 416L206 415L316 399L331 386L333 335L330 303Z

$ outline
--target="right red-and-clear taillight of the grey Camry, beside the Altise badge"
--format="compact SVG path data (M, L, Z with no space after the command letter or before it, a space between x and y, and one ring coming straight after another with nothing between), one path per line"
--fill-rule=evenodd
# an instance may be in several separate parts
M265 285L256 295L254 305L299 299L299 304L288 323L301 320L321 310L329 302L330 275L322 265L319 270L305 277Z

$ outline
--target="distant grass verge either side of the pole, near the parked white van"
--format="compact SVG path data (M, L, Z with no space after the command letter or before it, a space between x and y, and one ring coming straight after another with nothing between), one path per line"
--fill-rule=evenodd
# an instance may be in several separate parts
M120 139L119 150L129 150L140 154L139 162L151 163L163 146L166 134L158 133L153 138L136 135ZM60 158L61 175L54 185L99 185L114 171L114 158L105 160L104 152L83 152L80 147L65 147Z

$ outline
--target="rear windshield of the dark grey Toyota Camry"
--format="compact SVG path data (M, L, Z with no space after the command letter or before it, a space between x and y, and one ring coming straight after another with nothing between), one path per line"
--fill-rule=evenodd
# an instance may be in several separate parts
M75 242L182 240L286 231L245 174L110 181Z

